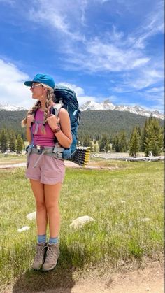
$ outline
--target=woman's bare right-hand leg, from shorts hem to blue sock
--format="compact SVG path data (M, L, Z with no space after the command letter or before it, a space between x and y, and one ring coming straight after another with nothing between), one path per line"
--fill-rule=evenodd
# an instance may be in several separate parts
M62 183L55 185L44 185L45 206L48 214L50 237L59 236L60 214L59 214L59 193Z

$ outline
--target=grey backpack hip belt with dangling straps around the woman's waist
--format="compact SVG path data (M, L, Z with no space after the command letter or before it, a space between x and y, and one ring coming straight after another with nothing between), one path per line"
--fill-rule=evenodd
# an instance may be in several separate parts
M43 155L48 155L50 157L55 157L56 159L63 159L62 153L64 152L64 148L60 148L57 146L53 147L41 147L39 145L29 145L29 148L27 149L27 168L29 165L29 155L30 154L37 154L40 155L38 159L36 160L36 163L34 164L33 168L36 168L36 165L40 161L41 157Z

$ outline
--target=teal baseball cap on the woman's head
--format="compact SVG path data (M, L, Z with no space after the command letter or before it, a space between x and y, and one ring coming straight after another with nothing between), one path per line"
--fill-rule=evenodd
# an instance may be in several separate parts
M36 74L36 76L34 76L33 80L25 81L24 85L27 85L27 87L31 87L33 83L43 83L44 85L52 87L52 89L55 88L55 80L47 74L38 73Z

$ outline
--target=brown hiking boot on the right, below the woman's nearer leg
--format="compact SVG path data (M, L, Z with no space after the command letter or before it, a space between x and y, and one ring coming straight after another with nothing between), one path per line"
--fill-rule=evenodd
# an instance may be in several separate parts
M48 243L48 250L46 252L45 262L43 264L43 271L50 271L55 268L59 258L59 243Z

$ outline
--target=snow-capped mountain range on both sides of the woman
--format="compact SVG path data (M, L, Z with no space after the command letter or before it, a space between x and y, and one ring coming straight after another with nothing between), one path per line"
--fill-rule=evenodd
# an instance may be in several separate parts
M6 104L0 104L0 111L1 110L7 110L7 111L22 111L27 110L23 107L17 107L17 106L11 106L8 103ZM83 111L89 111L89 110L117 110L121 112L129 112L136 115L141 115L145 117L156 117L159 119L164 120L164 115L162 113L159 113L159 111L154 110L146 110L140 106L116 106L113 103L111 103L108 99L103 101L103 103L96 103L94 101L87 101L82 106L80 106L80 110Z

